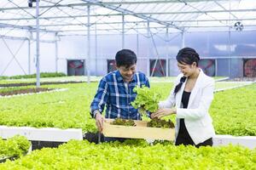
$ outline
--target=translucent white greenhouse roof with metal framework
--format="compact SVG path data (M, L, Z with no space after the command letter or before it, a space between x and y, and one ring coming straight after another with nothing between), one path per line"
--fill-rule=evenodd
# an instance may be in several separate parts
M27 2L0 2L1 35L35 31L36 3L30 8ZM40 0L39 4L40 31L62 36L86 35L89 26L91 34L145 33L148 26L153 32L256 29L255 0Z

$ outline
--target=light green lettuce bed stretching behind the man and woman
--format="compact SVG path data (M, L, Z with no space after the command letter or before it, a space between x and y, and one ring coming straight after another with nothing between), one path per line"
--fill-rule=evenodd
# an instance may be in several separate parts
M90 117L90 102L98 82L90 84L47 85L42 88L68 88L63 92L34 94L0 99L0 125L29 127L83 128L95 132ZM170 82L152 82L151 89L166 99L173 87ZM3 90L4 88L0 88ZM218 134L256 135L256 84L214 94L210 109ZM175 122L175 116L167 117Z

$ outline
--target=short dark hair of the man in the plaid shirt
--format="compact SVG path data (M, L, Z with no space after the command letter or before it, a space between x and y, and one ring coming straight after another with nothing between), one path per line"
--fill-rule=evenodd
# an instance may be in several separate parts
M115 62L118 67L125 66L128 68L137 63L137 56L131 49L122 49L115 54Z

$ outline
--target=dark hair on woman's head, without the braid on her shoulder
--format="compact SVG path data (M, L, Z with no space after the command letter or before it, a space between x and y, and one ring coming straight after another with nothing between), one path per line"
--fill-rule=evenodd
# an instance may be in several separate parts
M196 66L198 66L198 61L200 60L199 54L193 48L182 48L178 51L176 59L177 62L187 65L192 65L195 62Z

